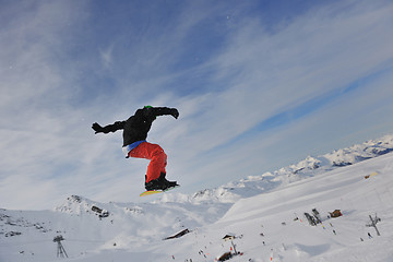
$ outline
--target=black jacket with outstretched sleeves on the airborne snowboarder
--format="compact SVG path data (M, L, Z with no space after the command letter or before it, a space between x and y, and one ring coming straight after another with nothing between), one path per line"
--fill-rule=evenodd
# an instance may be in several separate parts
M179 112L176 108L168 107L144 107L138 109L133 116L126 121L117 121L112 124L100 128L99 124L94 123L93 129L96 133L116 132L123 130L123 146L132 144L136 141L146 140L147 132L150 131L153 121L158 116L169 115L176 119L179 117ZM99 128L97 128L97 124Z

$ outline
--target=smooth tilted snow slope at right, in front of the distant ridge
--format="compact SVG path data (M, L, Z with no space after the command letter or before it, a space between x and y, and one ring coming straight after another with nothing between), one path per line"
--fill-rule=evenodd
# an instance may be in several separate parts
M239 249L247 247L249 257L259 261L267 261L272 249L274 261L393 261L392 186L389 154L242 199L214 227L243 234ZM318 226L303 216L313 209L321 215ZM329 218L335 210L343 216ZM380 237L366 226L376 214Z

